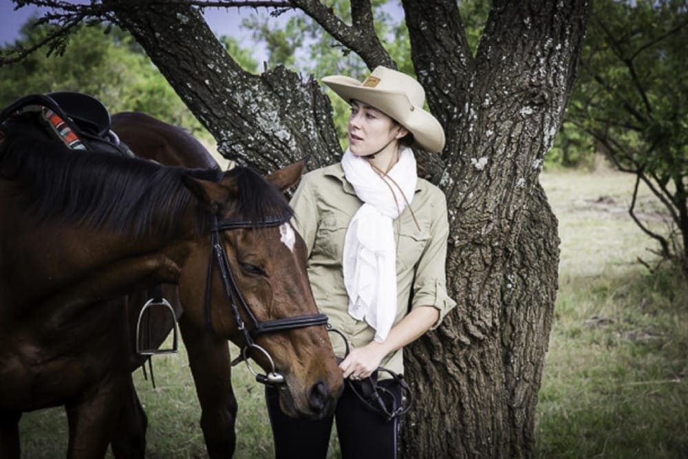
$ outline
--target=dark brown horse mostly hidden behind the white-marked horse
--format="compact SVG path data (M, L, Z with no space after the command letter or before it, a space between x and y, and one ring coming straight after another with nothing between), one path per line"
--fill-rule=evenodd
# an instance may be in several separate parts
M184 129L162 122L141 112L122 112L111 118L111 127L120 140L137 156L154 160L160 164L202 169L217 169L219 165L211 153ZM235 420L237 401L231 384L230 354L226 339L198 328L182 314L176 287L165 286L164 297L169 299L179 317L179 328L184 348L189 359L189 367L202 410L201 429L208 456L211 458L230 457L235 451ZM148 297L148 292L139 291L128 295L127 343L136 341L136 318ZM170 315L162 310L151 310L152 328L149 330L149 344L157 348L173 328ZM144 364L145 357L130 350L131 370ZM138 398L130 400L122 408L126 416L120 423L120 431L131 430L129 437L144 439L146 416ZM144 444L144 441L138 440ZM125 442L131 445L133 442ZM115 447L116 443L113 443ZM142 449L139 447L138 449ZM129 451L122 457L131 457Z

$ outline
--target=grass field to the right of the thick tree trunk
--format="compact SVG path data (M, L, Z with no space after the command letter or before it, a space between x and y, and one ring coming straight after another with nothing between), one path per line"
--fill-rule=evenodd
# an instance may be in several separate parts
M537 408L541 458L688 457L688 285L634 262L632 178L544 174L559 218L555 321ZM643 217L660 228L649 192Z

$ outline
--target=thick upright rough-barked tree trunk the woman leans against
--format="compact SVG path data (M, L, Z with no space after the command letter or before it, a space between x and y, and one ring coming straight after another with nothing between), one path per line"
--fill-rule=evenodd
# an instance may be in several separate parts
M455 32L455 2L402 3L416 74L447 129L440 185L458 303L406 354L418 408L405 420L403 456L530 457L559 261L537 176L568 102L588 6L495 1L473 59Z

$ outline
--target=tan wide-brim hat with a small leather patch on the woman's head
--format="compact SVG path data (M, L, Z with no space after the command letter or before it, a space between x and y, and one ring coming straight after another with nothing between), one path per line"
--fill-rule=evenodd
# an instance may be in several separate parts
M413 134L416 144L433 153L444 148L444 129L423 109L425 91L411 76L378 66L361 83L350 76L325 76L323 83L338 96L375 107Z

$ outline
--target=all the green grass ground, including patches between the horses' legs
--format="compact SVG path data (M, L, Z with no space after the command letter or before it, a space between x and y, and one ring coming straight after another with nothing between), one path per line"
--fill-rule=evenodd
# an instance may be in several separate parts
M537 412L539 458L688 458L688 286L650 274L648 239L627 216L632 178L544 173L559 218L561 264L555 321ZM661 227L645 191L643 218ZM154 361L158 387L136 372L149 416L149 458L204 458L200 409L184 352ZM237 458L272 456L263 389L244 367ZM65 456L63 409L25 414L24 458ZM1 456L1 451L0 451ZM330 454L338 457L336 448Z

